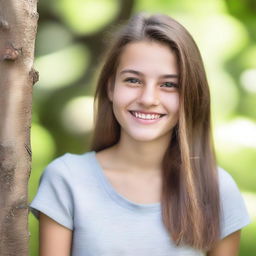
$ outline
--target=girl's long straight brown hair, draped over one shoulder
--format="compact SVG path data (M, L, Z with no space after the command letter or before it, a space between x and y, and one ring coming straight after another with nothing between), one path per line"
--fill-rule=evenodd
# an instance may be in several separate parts
M165 15L133 16L117 34L99 76L91 150L116 144L120 125L108 99L124 47L136 41L166 44L180 72L179 120L162 162L162 219L177 245L209 250L220 235L218 175L211 135L210 94L203 61L189 32Z

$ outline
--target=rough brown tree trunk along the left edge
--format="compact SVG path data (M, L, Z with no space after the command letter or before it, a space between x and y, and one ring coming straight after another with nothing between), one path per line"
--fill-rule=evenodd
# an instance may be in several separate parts
M0 255L28 255L37 0L0 0Z

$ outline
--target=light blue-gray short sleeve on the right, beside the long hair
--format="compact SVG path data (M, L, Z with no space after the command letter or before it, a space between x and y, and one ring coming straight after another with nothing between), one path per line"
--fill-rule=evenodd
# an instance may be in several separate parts
M244 199L232 176L219 168L221 238L250 223Z

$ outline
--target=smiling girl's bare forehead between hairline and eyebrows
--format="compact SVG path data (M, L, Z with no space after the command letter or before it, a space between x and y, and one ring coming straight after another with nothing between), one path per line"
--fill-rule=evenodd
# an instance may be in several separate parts
M148 74L178 74L177 57L171 48L159 42L139 41L126 45L117 71L131 68Z

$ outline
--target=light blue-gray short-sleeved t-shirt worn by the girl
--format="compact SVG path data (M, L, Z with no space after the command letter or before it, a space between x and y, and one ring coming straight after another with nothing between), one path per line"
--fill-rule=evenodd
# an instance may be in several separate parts
M221 238L250 222L232 177L219 168ZM44 170L32 201L32 213L43 212L73 230L72 256L201 256L177 247L162 223L160 203L138 204L117 193L94 151L66 153Z

